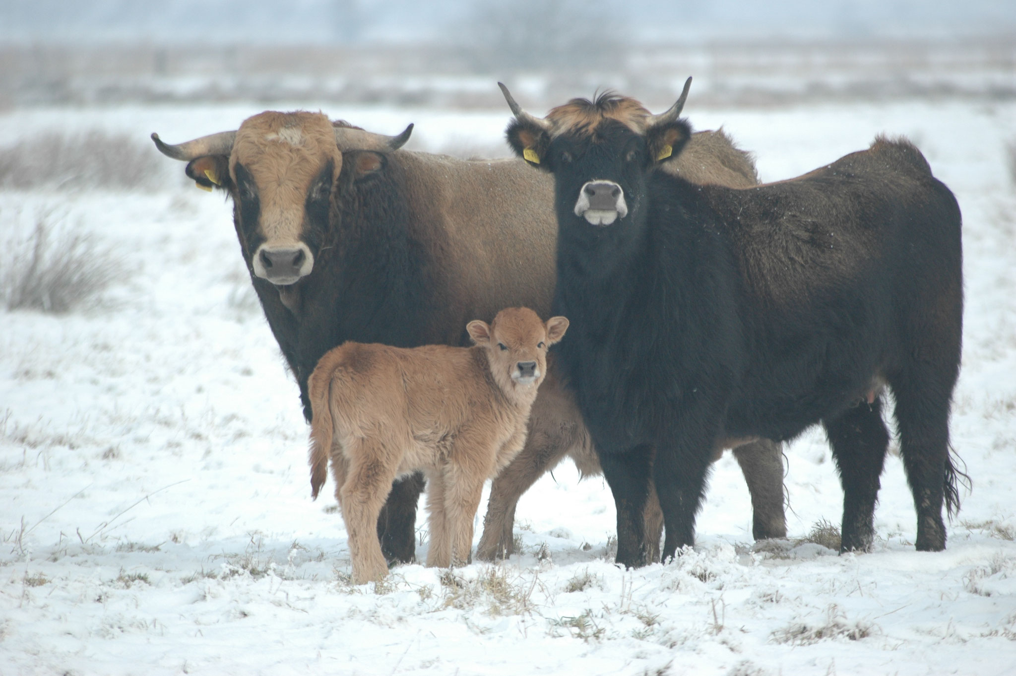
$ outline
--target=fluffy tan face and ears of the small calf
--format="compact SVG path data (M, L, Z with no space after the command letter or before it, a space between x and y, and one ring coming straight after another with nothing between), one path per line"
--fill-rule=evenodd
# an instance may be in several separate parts
M509 395L535 391L547 374L547 351L567 328L565 317L544 322L529 308L506 308L490 324L475 319L465 327L486 348L494 381Z

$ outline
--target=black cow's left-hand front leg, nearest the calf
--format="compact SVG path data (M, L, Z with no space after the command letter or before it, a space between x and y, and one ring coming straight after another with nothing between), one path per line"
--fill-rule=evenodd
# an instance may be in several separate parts
M643 566L649 560L644 512L649 497L652 446L642 444L624 452L598 454L618 510L617 562L627 568Z

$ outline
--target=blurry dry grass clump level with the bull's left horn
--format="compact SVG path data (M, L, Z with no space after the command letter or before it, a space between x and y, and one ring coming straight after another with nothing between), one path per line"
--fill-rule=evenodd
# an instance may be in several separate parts
M143 139L97 129L49 132L0 148L0 188L134 189L152 186L165 170Z

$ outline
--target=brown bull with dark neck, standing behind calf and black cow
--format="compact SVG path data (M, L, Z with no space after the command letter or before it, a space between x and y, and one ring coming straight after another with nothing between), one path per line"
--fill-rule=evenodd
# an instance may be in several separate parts
M463 345L461 327L473 317L514 305L550 314L557 229L550 177L519 160L398 149L410 129L388 137L321 114L265 112L236 131L179 145L152 135L162 152L188 163L198 185L232 197L251 283L308 420L307 378L345 341ZM666 165L697 183L757 180L748 155L721 131L694 134ZM480 556L511 553L518 497L566 453L598 471L569 395L542 387L532 421L530 442L495 482ZM780 449L752 448L738 459L752 493L753 533L781 537ZM422 490L422 478L396 482L382 511L378 532L390 560L414 558Z

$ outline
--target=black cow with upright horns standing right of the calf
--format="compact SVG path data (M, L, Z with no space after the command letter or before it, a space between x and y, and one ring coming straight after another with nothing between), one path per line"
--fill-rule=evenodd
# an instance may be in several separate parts
M943 500L958 508L961 220L920 152L879 137L790 181L698 186L658 169L691 133L674 109L653 116L608 93L541 119L505 95L509 143L555 178L554 312L571 320L558 359L617 502L618 562L645 563L650 480L673 556L693 543L717 445L815 423L843 486L841 551L870 549L883 383L916 548L943 549Z

